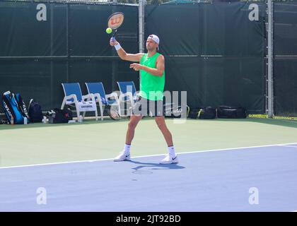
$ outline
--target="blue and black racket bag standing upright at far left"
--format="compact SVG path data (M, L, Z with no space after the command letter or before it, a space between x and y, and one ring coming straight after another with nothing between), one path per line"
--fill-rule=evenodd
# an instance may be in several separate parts
M1 105L10 124L23 124L25 117L29 122L27 108L19 93L14 94L10 91L5 92L2 94Z

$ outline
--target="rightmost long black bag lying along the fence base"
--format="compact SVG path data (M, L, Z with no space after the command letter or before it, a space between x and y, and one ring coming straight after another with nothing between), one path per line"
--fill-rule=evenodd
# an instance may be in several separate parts
M219 106L217 113L218 118L221 119L245 119L247 117L244 107Z

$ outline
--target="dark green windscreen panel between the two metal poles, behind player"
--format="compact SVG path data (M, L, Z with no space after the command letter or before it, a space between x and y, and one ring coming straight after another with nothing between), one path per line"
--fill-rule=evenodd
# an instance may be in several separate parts
M187 90L190 107L265 111L265 4L146 7L146 36L160 37L167 90Z

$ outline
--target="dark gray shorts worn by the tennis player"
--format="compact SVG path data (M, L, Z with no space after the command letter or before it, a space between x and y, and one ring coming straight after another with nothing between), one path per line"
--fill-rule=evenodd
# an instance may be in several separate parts
M143 97L138 97L134 103L132 114L141 114L142 116L163 116L163 101L148 100Z

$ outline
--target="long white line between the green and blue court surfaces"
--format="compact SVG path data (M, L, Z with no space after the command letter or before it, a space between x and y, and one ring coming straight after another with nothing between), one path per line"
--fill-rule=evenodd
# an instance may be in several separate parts
M284 146L284 145L290 145L290 144L297 144L297 143L279 143L279 144L272 144L272 145L260 145L260 146L250 146L250 147L240 147L240 148L196 150L196 151L177 153L177 154L182 155L182 154L191 154L191 153L209 153L209 152L213 152L213 151L222 151L222 150L243 150L243 149L248 149L248 148L266 148L266 147ZM292 147L295 147L295 146L292 146ZM165 154L141 155L141 156L135 156L133 158L153 157L153 156L161 156L161 155L165 155ZM42 165L60 165L60 164L79 163L79 162L100 162L100 161L110 161L110 160L113 160L113 158L105 158L105 159L100 159L100 160L79 160L79 161L71 161L71 162L50 162L50 163L33 164L33 165L16 165L16 166L11 166L11 167L0 167L0 169L21 168L21 167L36 167L36 166L42 166Z

